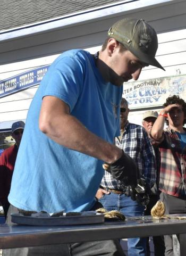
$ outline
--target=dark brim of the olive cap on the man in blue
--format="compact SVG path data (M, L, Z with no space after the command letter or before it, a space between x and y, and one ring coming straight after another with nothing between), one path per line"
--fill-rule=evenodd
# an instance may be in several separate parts
M152 65L152 66L157 67L159 69L163 69L165 71L165 69L162 67L162 65L159 64L159 62L155 59L155 57L150 56L150 55L148 55L146 53L137 52L134 49L131 49L130 47L128 47L126 44L125 44L125 47L128 48L129 51L131 53L133 53L136 57L138 57L138 59L141 62L144 62L144 63L146 63L148 65Z

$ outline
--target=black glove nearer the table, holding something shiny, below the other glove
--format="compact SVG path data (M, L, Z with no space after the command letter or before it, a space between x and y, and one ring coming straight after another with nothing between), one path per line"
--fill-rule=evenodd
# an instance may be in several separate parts
M138 179L136 187L128 186L125 192L126 196L131 196L131 199L137 201L143 206L147 206L149 203L148 186L144 177Z

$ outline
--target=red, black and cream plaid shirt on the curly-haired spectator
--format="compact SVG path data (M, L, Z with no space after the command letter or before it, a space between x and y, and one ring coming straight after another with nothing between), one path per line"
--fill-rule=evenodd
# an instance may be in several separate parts
M186 191L186 146L181 147L176 132L167 127L156 143L161 154L159 189L160 191L182 197Z

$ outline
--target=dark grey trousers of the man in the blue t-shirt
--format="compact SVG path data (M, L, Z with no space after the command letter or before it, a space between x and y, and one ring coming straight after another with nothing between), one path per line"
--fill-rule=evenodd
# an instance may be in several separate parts
M99 205L100 207L100 205ZM92 208L93 209L93 208ZM91 209L91 210L92 210ZM7 224L11 222L11 213L18 209L10 205ZM125 256L118 240L92 241L4 249L3 256Z

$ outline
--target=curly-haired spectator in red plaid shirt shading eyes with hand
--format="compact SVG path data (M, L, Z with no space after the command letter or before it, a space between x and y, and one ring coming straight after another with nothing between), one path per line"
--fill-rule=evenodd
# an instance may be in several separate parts
M161 153L159 189L165 213L186 213L186 103L179 96L166 99L151 136L159 144ZM164 124L168 125L164 129ZM164 236L165 255L174 256L172 236ZM186 255L186 252L184 253Z

